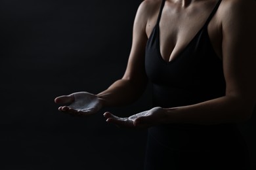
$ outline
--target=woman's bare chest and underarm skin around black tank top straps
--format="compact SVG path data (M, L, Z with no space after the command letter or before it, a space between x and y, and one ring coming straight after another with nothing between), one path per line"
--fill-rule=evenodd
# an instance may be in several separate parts
M146 25L148 37L156 25L161 0L154 3L156 3L154 10ZM175 4L171 0L165 1L160 20L160 52L165 61L172 61L179 55L201 29L216 3L216 0L196 1L187 7L182 7L181 4ZM222 58L222 29L218 13L219 10L211 19L207 29L213 49L217 56Z

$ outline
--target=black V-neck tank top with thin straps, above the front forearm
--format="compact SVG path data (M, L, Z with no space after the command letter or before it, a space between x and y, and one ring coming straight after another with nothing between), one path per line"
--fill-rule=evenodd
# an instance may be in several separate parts
M153 104L159 107L179 107L200 103L225 94L223 63L213 50L207 25L217 11L215 5L203 27L173 61L164 61L160 53L160 18L146 45L145 68L153 84Z

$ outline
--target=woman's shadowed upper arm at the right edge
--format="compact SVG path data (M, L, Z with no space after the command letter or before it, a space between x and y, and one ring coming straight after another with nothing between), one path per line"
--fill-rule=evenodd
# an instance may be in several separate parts
M256 24L253 0L223 1L223 69L226 95L256 101ZM250 108L252 109L252 108Z

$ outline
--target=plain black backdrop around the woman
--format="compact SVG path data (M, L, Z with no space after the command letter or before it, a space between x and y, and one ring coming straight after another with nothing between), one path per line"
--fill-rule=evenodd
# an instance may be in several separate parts
M89 118L54 104L121 78L140 2L0 1L0 169L142 169L146 130L119 129L102 114L150 109L150 87L135 104ZM252 160L254 117L240 125Z

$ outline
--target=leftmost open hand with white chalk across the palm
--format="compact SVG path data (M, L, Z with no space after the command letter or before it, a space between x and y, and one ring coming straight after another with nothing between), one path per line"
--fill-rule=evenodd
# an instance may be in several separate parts
M102 101L96 95L87 92L77 92L62 95L54 99L55 103L62 104L58 110L72 115L90 115L102 108ZM66 106L68 105L68 106Z

